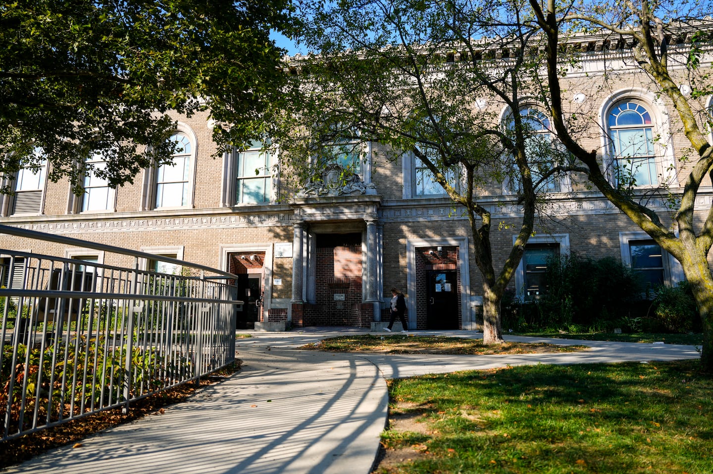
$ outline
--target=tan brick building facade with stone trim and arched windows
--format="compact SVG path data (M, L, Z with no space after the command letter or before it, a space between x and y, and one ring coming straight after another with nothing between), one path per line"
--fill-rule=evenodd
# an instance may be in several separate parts
M677 159L687 141L672 104L650 92L649 80L634 69L598 87L603 58L597 54L568 75L571 110L595 117L585 148L600 149L606 167L612 137L624 130L617 128L616 116L638 114L642 133L657 137L650 141L647 166L648 179L658 182L642 186L642 195L662 181L673 194L680 192L690 164ZM683 70L680 77L683 82ZM487 106L504 110L497 102ZM711 99L702 98L700 107L710 110ZM369 327L382 320L389 289L396 287L406 294L409 326L476 329L481 275L468 220L447 196L419 186L413 156L376 160L381 145L365 143L361 179L349 192L279 196L279 175L271 171L279 160L276 154L245 150L213 159L207 115L176 118L172 139L183 144L175 158L179 166L145 169L133 184L119 189L88 177L87 192L79 197L71 194L67 181L48 181L46 168L23 170L9 182L16 193L0 197L0 223L229 270L236 275L240 297L249 303L250 315L241 316L245 327L282 321ZM580 181L560 180L548 193L548 219L537 224L511 282L520 297L543 291L538 275L548 256L570 252L613 256L636 267L632 256L645 251L649 266L642 271L665 284L682 280L673 258ZM513 245L515 232L508 224L519 226L520 211L516 196L504 186L493 185L490 192L485 205L493 221L504 224L493 232L498 268ZM647 202L667 209L662 197ZM712 206L710 183L699 192L697 204L703 212ZM128 264L88 248L9 236L0 236L0 248Z

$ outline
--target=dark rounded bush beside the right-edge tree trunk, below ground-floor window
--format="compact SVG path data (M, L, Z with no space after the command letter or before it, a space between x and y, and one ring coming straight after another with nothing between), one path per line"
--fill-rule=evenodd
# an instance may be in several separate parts
M652 310L655 319L669 332L690 332L699 322L696 302L685 281L674 288L659 288Z

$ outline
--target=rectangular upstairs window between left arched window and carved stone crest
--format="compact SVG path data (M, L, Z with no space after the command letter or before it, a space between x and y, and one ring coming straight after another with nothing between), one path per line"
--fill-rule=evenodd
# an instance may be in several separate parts
M269 202L272 196L272 153L262 142L252 142L250 148L237 153L237 204Z

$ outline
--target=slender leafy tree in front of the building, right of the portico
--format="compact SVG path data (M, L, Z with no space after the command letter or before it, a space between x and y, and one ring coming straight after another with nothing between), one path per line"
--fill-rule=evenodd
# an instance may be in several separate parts
M538 91L522 78L539 60L523 51L533 28L514 21L514 9L500 12L513 16L510 24L483 28L472 6L467 0L302 2L310 21L299 40L318 54L292 63L299 96L275 134L303 183L314 166L349 154L346 148L358 142L386 145L375 159L418 159L424 172L416 179L432 179L468 217L483 275L483 339L494 343L503 340L503 293L533 233L535 190L561 171L553 163L566 157L538 138L546 126L529 108ZM482 7L477 13L486 15ZM473 39L496 34L503 39L488 45ZM518 51L506 67L496 58L502 48ZM316 163L308 166L304 157L317 157ZM346 174L353 171L347 166ZM506 201L519 207L522 220L496 268L491 232L502 223L493 221L492 196L502 194L506 181L515 189Z

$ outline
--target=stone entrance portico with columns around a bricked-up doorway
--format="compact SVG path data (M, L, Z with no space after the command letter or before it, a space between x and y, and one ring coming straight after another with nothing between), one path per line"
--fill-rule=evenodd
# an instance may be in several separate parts
M381 320L380 205L373 194L292 202L292 325L369 327Z

